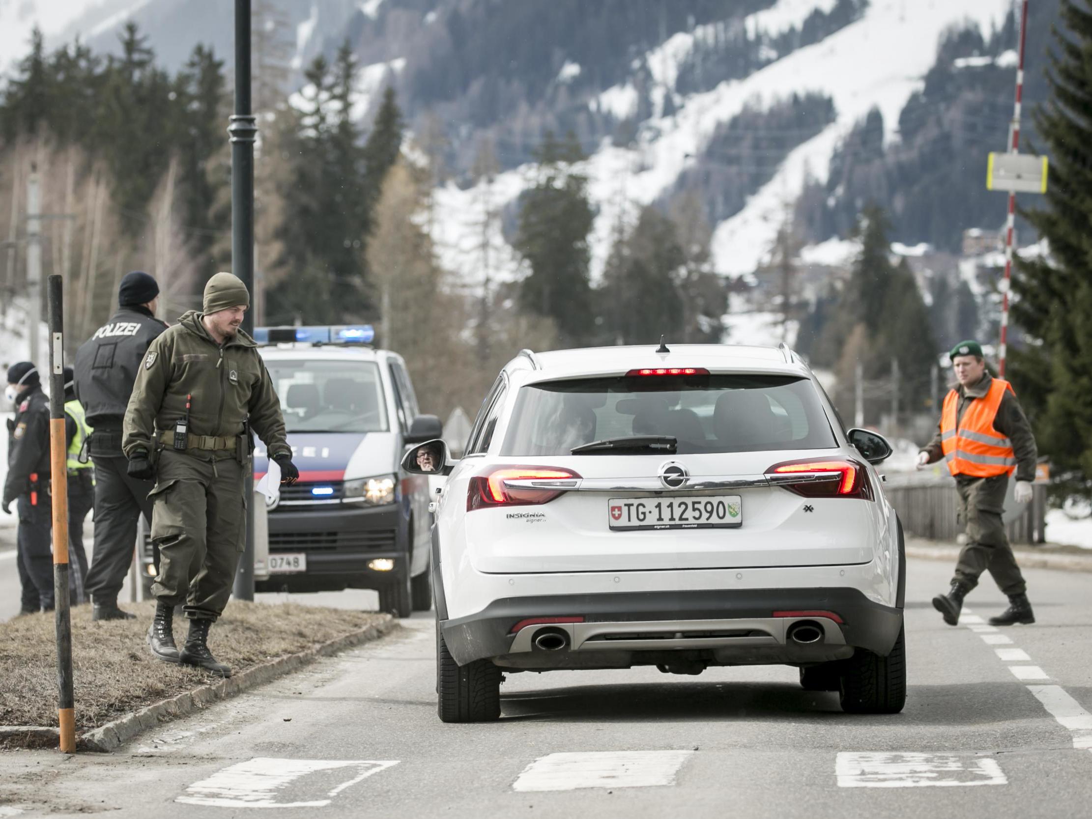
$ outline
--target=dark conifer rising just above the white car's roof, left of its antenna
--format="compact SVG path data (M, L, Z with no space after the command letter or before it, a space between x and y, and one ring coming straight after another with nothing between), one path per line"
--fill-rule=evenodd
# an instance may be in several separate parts
M539 178L520 195L514 244L531 268L520 304L527 312L554 319L562 344L579 345L593 330L587 235L594 214L587 179L572 168L584 154L571 133L558 141L547 132L535 158Z

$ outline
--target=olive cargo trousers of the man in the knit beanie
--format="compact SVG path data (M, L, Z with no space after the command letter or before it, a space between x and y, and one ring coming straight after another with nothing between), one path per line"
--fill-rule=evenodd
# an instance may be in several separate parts
M218 455L218 456L217 456ZM152 594L187 617L216 619L246 545L242 466L234 453L163 450L152 501L159 572Z

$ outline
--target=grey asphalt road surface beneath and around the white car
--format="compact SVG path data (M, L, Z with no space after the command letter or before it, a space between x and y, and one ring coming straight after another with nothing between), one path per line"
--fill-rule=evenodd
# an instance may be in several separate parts
M933 610L950 569L910 562L899 715L790 668L638 669L511 675L500 722L444 725L415 618L112 755L0 755L0 816L1088 817L1092 577L1029 571L1038 622L993 630L988 580L964 625Z

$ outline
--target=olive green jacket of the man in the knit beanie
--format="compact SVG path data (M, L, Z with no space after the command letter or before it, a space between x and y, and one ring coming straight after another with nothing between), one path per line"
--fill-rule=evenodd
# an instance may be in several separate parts
M254 340L241 330L223 346L190 310L152 342L144 355L122 426L122 449L152 452L156 431L173 431L192 395L189 434L233 438L244 422L271 456L292 453L281 402Z

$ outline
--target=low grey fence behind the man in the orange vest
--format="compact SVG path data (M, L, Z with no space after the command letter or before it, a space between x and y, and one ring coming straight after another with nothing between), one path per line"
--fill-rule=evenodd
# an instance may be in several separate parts
M1046 486L1036 484L1031 502L1009 519L1006 531L1010 543L1046 543ZM958 520L959 497L956 483L947 476L890 474L883 491L899 513L907 535L954 543L963 533ZM1010 488L1011 496L1011 488ZM1011 502L1011 501L1010 501Z

